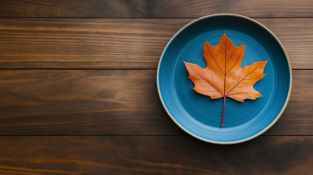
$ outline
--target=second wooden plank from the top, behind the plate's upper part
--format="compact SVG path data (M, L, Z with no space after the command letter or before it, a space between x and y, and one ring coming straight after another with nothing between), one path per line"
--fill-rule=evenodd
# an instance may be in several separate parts
M157 68L192 20L0 18L0 68ZM256 20L281 40L293 69L313 68L313 18Z

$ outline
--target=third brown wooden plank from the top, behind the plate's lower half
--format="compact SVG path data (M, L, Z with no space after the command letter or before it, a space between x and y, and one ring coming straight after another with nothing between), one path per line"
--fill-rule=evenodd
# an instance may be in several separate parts
M313 135L313 70L293 71L287 108L266 135ZM0 135L181 135L156 70L0 70Z

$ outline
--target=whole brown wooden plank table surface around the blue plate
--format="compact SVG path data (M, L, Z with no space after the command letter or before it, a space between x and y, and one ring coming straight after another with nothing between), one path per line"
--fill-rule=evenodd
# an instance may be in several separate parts
M189 136L162 108L156 68L194 19L264 24L290 57L277 123L245 143ZM0 174L313 174L313 2L0 1Z

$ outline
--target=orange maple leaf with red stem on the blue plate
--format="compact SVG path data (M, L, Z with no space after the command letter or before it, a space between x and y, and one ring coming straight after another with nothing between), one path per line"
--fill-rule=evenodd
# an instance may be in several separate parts
M247 98L262 97L253 85L264 77L263 70L267 61L255 62L241 68L244 49L245 44L236 47L224 33L217 46L205 42L203 56L207 63L206 68L184 61L189 72L188 78L195 84L195 91L210 96L211 99L224 98L221 128L224 123L226 97L239 102L244 102Z

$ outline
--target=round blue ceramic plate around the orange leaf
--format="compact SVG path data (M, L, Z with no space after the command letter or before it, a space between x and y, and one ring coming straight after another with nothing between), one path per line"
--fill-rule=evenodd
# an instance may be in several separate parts
M266 75L254 85L264 97L244 103L226 98L220 128L224 99L210 99L193 90L183 60L205 68L204 43L209 38L216 46L225 31L235 46L246 44L242 68L257 61L268 63ZM291 80L289 58L277 37L259 22L234 14L205 16L179 30L165 47L157 72L159 96L172 120L193 137L217 144L244 142L269 129L288 103Z

